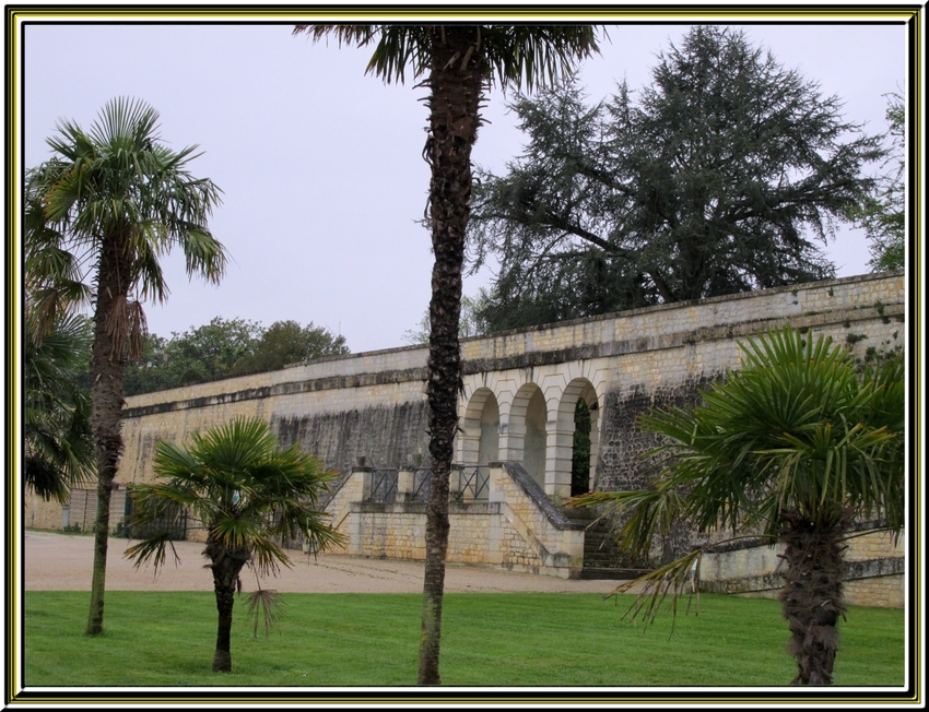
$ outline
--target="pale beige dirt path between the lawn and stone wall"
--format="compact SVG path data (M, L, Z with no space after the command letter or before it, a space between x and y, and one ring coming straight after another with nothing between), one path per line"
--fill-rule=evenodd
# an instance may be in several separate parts
M203 568L203 544L176 542L180 562L175 566L168 553L164 568L154 575L151 567L134 569L122 554L132 542L109 539L106 588L108 591L212 591L210 572ZM293 568L277 579L262 580L262 588L303 593L420 593L423 590L422 561L369 559L357 556L324 555L317 559L291 551ZM90 591L93 537L25 533L25 584L27 591ZM243 572L243 590L256 589L255 575ZM496 569L449 563L447 592L540 592L600 593L615 588L614 581L568 581L550 575L513 573Z

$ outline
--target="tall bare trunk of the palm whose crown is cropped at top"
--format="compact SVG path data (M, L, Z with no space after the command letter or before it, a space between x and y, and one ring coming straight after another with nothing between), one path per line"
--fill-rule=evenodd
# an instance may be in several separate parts
M426 393L430 405L432 491L426 510L426 562L420 636L420 685L439 685L442 603L448 551L448 477L458 426L461 352L461 268L465 228L471 205L471 146L478 137L484 72L474 26L433 29L430 137L424 155L432 168L430 212L435 264L430 301L430 356Z

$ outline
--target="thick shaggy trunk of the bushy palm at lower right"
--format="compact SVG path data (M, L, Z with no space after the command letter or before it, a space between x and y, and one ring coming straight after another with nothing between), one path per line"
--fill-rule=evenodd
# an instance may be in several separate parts
M839 616L845 617L842 581L847 547L842 541L849 514L836 512L819 522L797 512L781 518L787 522L781 533L787 572L780 597L798 668L791 685L832 685L836 625Z

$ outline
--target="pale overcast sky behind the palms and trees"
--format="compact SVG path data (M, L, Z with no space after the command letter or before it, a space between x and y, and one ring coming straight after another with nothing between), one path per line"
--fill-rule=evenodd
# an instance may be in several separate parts
M788 69L845 100L845 118L886 128L885 94L905 88L903 24L742 26ZM650 81L656 52L685 25L618 25L602 55L580 67L591 99L616 81ZM25 165L49 156L59 117L89 128L110 98L161 112L175 149L224 191L211 222L232 260L219 286L188 283L166 262L172 294L149 305L152 332L169 336L213 317L266 327L292 319L345 336L353 352L403 345L428 305L432 254L422 218L428 168L424 90L364 74L369 50L314 45L289 25L31 24L25 29ZM473 152L496 171L520 153L506 98L491 95ZM830 246L842 276L867 272L868 246L843 232ZM487 271L469 277L474 295Z

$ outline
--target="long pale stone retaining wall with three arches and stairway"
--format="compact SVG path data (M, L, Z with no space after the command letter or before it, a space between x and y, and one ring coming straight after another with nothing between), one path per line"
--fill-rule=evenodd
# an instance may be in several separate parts
M526 483L533 483L537 494L560 512L571 494L579 400L592 423L590 488L642 487L638 455L656 440L637 429L638 415L656 405L694 402L701 385L739 367L740 341L792 324L811 335L831 335L867 358L875 351L905 347L905 312L904 275L885 273L465 340L457 460L463 465L517 463L520 474L511 465L497 467L492 471L493 499L456 506L450 550L459 558L454 560L572 575L583 557L571 538L576 535L565 534L567 541L558 538L562 534L554 539L540 534L553 525L552 519L526 496ZM298 442L342 473L344 482L329 511L350 536L346 550L422 558L425 514L414 502L379 508L364 502L352 473L361 460L375 467L428 466L426 356L424 346L368 352L129 397L117 482L151 480L160 439L177 442L234 416L257 416L271 424L282 444ZM27 497L25 523L60 529L61 509ZM678 542L679 547L687 544L686 537ZM745 553L743 563L733 565L741 571L737 578L771 573L749 570L760 566L760 556ZM862 579L868 583L860 588L880 579L884 589L899 591L899 550L884 547L868 556L896 563L859 566L866 574L880 569L879 575ZM710 569L707 565L707 573Z

